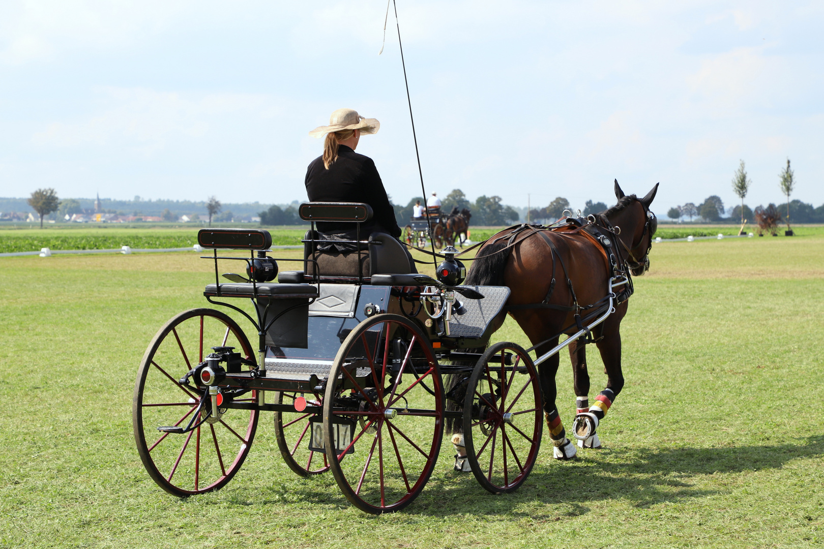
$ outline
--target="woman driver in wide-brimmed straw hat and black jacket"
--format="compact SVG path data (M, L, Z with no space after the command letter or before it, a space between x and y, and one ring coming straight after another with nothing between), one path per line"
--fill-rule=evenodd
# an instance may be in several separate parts
M377 133L381 123L364 119L353 109L337 109L328 126L319 126L309 132L311 137L325 137L323 154L311 161L307 169L306 187L311 202L364 202L372 207L372 221L361 226L361 238L381 230L398 238L400 227L395 219L395 208L386 196L381 176L368 156L355 152L362 135ZM350 223L319 221L322 233L345 232Z

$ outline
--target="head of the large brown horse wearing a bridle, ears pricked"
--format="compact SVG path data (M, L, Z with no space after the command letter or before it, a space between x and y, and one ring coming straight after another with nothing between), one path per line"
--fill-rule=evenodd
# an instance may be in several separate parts
M658 184L644 198L634 194L625 195L616 179L616 197L618 203L606 212L612 225L619 226L618 238L625 254L625 263L630 272L639 277L649 269L649 250L653 247L653 235L658 229L658 218L649 209L649 205L658 192Z

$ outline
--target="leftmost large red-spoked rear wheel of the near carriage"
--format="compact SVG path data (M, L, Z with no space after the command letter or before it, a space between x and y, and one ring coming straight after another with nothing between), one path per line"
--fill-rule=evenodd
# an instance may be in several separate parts
M172 495L202 494L225 486L241 468L255 438L258 412L231 408L218 421L202 422L185 434L157 430L185 427L192 419L202 393L178 379L204 361L213 346L235 347L255 361L249 340L227 314L190 309L160 328L138 369L132 402L134 440L149 476ZM255 402L255 391L235 400ZM193 425L205 416L201 412Z

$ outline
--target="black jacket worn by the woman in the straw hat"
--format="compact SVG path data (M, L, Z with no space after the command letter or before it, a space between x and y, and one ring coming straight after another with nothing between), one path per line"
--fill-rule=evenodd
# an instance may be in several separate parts
M311 202L365 202L372 207L372 221L361 226L362 238L373 230L382 230L399 238L400 227L395 209L386 197L381 176L368 156L359 155L345 145L338 147L338 158L326 170L323 156L311 161L306 177L307 195ZM318 221L317 229L324 233L353 230L352 223Z

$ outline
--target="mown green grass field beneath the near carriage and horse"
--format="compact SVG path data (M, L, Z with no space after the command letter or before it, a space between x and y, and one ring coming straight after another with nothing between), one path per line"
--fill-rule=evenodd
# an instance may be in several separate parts
M824 546L824 235L658 244L651 261L605 449L558 463L545 437L527 483L490 495L444 444L419 499L375 517L329 474L289 471L271 414L222 491L181 500L147 476L134 375L166 319L206 305L211 263L0 258L0 547ZM526 343L511 322L495 339ZM562 356L568 426L569 370Z

